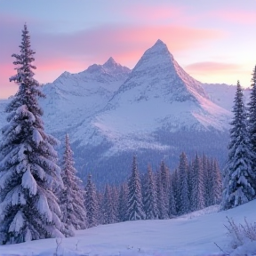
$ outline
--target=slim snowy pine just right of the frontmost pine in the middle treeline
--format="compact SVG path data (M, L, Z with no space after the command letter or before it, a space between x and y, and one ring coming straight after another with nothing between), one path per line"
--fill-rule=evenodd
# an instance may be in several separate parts
M145 191L145 204L144 209L146 213L147 220L156 220L158 219L158 209L156 203L156 180L154 179L154 174L152 172L151 166L148 164L147 172L147 186Z

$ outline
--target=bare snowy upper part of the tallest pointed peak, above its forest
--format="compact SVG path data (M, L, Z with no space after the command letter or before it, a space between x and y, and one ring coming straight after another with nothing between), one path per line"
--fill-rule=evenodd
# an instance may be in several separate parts
M159 129L228 131L230 117L230 112L214 104L202 84L180 68L158 40L91 125L119 151L124 145L126 149L154 147L150 133ZM155 146L161 148L157 143Z

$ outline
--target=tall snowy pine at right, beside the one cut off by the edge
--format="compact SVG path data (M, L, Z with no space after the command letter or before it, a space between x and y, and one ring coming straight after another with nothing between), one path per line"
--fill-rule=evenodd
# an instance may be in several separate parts
M221 208L227 210L247 203L255 196L252 188L252 153L246 127L243 91L237 81L230 129L228 164L224 174Z

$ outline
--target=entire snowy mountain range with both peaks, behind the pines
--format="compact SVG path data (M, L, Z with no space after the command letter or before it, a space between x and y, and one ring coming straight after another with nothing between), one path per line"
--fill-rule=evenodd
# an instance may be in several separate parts
M45 130L60 141L69 133L83 178L92 172L102 183L122 180L134 153L140 169L163 158L175 167L181 151L225 160L236 88L196 81L161 40L132 71L109 58L78 74L64 72L42 90Z

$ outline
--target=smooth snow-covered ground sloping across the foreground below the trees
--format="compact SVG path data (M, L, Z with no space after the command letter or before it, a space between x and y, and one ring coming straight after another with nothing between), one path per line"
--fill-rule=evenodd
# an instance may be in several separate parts
M77 231L76 236L60 242L57 255L61 256L172 256L224 255L229 238L226 235L226 216L244 223L256 220L256 200L218 212L218 205L192 212L172 220L127 221ZM256 244L252 244L256 245ZM251 247L252 247L251 246ZM45 239L23 244L0 245L1 256L53 256L56 239ZM256 251L256 248L255 248ZM232 255L245 255L241 252Z

